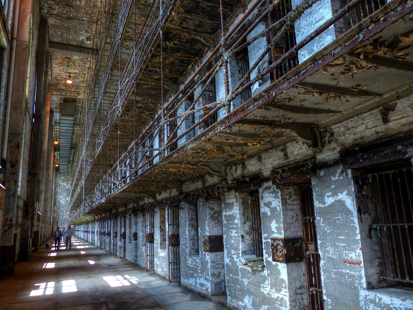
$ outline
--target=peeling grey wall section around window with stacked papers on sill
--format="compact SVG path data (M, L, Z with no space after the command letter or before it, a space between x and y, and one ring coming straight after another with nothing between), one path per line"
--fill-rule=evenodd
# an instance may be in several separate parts
M252 253L249 194L229 191L222 198L225 281L228 303L239 308L307 309L308 297L304 256L289 253L287 242L302 238L297 186L276 189L271 182L258 189L263 271L240 266L241 255ZM299 248L299 247L296 247ZM273 259L274 250L287 253ZM280 255L281 256L281 255Z

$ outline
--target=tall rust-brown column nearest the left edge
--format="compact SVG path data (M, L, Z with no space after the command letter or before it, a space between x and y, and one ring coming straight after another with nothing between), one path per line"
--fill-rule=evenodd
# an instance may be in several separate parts
M7 162L5 175L5 209L3 214L0 248L0 273L13 274L16 253L15 224L17 217L17 187L19 181L20 150L22 143L23 111L26 100L25 83L27 76L29 43L30 43L30 21L31 21L31 0L21 0L19 6L16 49L14 59L13 80L11 94L11 113L9 133L7 138Z

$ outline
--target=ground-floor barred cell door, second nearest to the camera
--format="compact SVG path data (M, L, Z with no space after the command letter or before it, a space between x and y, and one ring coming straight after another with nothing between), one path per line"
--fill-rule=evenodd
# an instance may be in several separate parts
M169 282L180 282L179 209L168 207Z

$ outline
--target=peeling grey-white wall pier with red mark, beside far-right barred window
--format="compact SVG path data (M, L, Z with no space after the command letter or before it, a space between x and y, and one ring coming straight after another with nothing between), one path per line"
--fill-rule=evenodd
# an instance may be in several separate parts
M325 309L359 310L366 266L352 172L325 168L312 184Z

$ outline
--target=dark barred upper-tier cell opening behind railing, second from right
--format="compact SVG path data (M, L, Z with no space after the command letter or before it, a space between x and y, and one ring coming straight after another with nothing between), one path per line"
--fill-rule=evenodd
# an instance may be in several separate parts
M292 11L291 0L281 0L278 5L276 5L271 12L271 23L279 21L285 17L288 13ZM276 31L270 31L270 41L277 35ZM287 30L281 37L280 40L271 50L272 61L275 62L278 58L288 52L297 44L295 38L294 25L291 25L290 29ZM289 72L292 68L298 65L298 53L295 52L294 55L290 58L287 58L284 62L278 65L273 74L274 79L279 79L281 76Z

